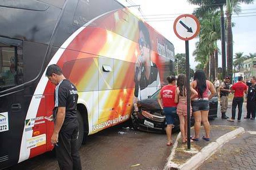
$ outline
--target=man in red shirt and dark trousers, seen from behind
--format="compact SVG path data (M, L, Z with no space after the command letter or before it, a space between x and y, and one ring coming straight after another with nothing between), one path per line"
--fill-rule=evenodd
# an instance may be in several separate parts
M247 85L242 82L243 77L238 77L238 82L235 83L232 88L231 92L235 92L234 98L232 101L232 118L228 119L229 122L234 122L236 117L236 106L238 105L238 118L237 121L241 121L241 115L242 115L242 106L244 102L244 93L247 94Z

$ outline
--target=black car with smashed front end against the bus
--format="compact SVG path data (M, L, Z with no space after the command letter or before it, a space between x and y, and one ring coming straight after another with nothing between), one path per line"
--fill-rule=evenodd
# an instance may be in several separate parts
M134 104L134 111L131 114L132 125L134 129L142 129L146 131L165 132L166 119L165 113L160 108L157 102L160 90L156 91L148 99L140 100ZM218 97L214 96L209 100L209 119L217 117L218 111ZM191 118L191 124L194 123L194 118ZM179 116L176 114L174 130L179 130L180 127Z

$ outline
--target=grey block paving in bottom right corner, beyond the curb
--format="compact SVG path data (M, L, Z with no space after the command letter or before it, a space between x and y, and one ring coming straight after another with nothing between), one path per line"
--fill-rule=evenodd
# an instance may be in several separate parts
M256 170L256 132L239 135L224 144L198 170Z

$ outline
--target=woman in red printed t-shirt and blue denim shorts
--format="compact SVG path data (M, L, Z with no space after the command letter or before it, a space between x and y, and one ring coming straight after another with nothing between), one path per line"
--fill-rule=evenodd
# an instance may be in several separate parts
M174 102L175 90L176 90L176 78L174 76L167 77L168 85L163 86L158 97L158 103L164 110L166 116L166 135L167 135L167 146L172 145L172 127L174 124L174 117L176 114L177 104Z

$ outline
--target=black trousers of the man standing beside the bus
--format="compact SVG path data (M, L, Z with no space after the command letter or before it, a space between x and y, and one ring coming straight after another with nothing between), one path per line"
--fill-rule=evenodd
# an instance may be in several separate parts
M58 136L58 146L55 145L56 156L60 170L81 170L79 148L77 146L78 123L76 127L61 130Z

